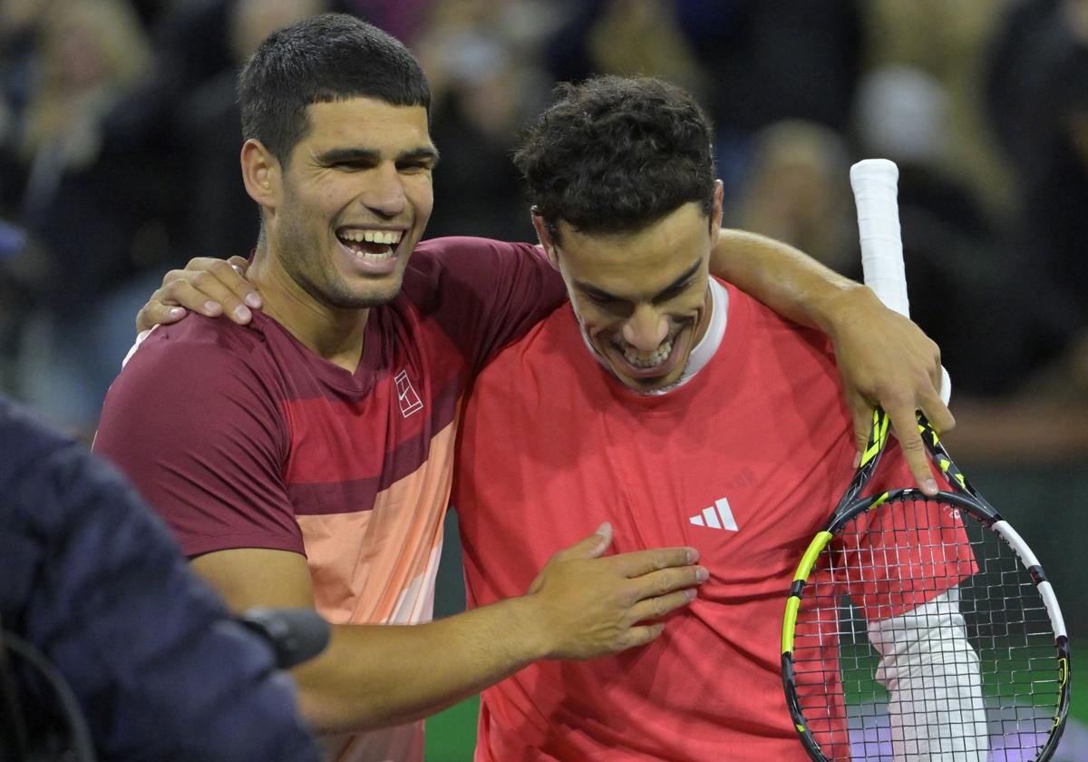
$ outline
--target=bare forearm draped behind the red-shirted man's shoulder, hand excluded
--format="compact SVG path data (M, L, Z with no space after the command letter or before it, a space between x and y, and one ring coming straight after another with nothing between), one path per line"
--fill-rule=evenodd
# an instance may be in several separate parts
M840 305L876 297L788 244L722 229L710 255L710 272L794 322L833 334Z

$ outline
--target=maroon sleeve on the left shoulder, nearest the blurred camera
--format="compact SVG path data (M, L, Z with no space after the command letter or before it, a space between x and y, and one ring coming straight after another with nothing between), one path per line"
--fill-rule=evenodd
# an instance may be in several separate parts
M274 380L238 347L160 332L110 388L95 451L133 481L186 555L304 553L283 482L287 433L268 389Z

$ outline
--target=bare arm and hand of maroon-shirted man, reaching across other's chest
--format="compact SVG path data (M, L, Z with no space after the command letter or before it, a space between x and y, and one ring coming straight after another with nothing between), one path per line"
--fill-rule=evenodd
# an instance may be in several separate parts
M706 579L692 548L601 557L608 524L555 553L524 595L424 625L334 625L323 653L296 667L299 706L320 733L398 725L494 685L539 659L594 659L644 646ZM232 549L193 568L235 611L312 606L306 558Z

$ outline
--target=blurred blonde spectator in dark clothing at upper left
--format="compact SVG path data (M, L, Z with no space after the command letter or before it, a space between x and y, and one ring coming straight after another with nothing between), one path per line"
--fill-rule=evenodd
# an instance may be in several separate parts
M42 17L39 73L15 144L26 168L23 221L57 258L57 274L70 286L65 305L83 297L75 305L82 308L116 276L138 224L118 205L140 177L138 167L123 149L103 149L108 118L148 75L151 49L120 0L69 0L63 11ZM140 179L141 195L150 184Z

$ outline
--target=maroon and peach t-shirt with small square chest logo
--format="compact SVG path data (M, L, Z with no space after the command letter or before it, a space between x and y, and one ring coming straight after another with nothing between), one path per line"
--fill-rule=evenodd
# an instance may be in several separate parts
M332 622L425 622L460 398L562 298L536 247L438 238L370 310L354 373L260 312L160 325L111 386L95 450L187 554L304 553ZM422 723L357 736L341 759L421 760Z

